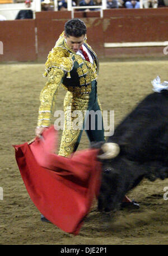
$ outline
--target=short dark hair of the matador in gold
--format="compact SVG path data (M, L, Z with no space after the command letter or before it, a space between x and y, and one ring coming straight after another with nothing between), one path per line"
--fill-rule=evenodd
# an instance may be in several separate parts
M79 18L73 18L72 20L67 21L64 26L66 36L75 36L76 38L85 35L86 30L85 22Z

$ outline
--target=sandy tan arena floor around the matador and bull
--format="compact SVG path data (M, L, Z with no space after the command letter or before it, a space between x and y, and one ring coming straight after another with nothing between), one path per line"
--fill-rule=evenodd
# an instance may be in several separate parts
M166 58L166 57L165 57ZM98 80L99 99L104 110L115 111L115 125L148 93L157 75L168 80L168 59L101 62ZM80 235L66 234L53 224L40 221L18 170L13 144L34 138L39 94L46 78L44 64L1 64L1 155L0 244L168 244L168 201L164 187L168 180L142 183L129 193L141 208L119 211L109 227L100 221L96 203L82 226ZM66 91L60 89L57 109L63 108ZM88 147L83 133L80 149Z

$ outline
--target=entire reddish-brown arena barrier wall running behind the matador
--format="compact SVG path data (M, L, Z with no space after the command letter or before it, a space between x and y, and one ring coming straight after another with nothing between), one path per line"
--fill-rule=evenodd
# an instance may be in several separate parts
M143 46L143 43L168 41L168 8L104 10L103 18L99 11L78 11L74 17L86 22L88 43L99 58L162 56L164 46ZM4 50L0 61L44 62L70 18L68 11L36 12L35 20L1 21L0 41ZM136 47L132 44L135 42L142 45ZM123 47L114 43L130 44Z

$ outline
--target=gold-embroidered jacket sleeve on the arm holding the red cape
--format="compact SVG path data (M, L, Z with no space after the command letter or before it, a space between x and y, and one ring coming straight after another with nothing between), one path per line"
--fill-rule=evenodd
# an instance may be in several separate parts
M62 84L65 72L58 68L50 69L48 74L49 80L46 82L43 90L40 93L40 108L38 116L38 127L48 127L52 117L55 98Z

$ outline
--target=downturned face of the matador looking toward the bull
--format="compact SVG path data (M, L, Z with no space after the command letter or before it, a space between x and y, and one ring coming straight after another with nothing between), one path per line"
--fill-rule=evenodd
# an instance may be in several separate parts
M76 38L76 36L66 36L67 45L68 47L75 53L81 48L82 44L85 41L86 35L82 35L79 38Z

